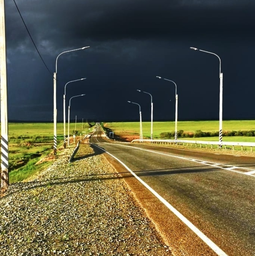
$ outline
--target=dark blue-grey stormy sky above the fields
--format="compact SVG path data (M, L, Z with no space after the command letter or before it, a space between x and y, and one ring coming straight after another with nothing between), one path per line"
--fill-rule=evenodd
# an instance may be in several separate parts
M5 0L9 120L53 119L57 62L57 119L63 93L71 118L174 120L219 118L219 59L223 120L254 119L255 1L253 0L16 0L51 74L43 65L13 0Z

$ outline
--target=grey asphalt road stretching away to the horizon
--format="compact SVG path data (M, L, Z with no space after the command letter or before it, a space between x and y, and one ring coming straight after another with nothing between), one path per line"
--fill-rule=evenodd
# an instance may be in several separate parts
M226 255L255 255L254 157L120 143L109 141L101 133L98 127L90 143L126 164ZM125 172L126 177L131 176L127 170L120 172ZM147 193L151 192L147 190ZM159 200L155 199L153 204L159 204L160 209ZM144 205L147 209L151 204L145 202ZM173 247L174 243L178 243L179 248L175 251L178 253L179 249L179 255L186 255L183 252L188 251L188 247L194 248L191 255L220 255L203 247L203 241L197 239L185 225L173 224L176 218L170 210L167 211L162 210L167 224L161 226L171 226L163 233L175 237L170 241ZM157 214L161 212L154 213ZM196 243L199 245L195 246Z

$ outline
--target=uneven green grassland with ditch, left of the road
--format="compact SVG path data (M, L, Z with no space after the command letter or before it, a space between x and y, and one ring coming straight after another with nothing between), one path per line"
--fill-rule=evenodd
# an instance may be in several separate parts
M73 135L75 123L70 123L70 135ZM88 133L89 125L76 124L77 133ZM67 126L66 126L67 133ZM63 123L57 124L57 144L62 146ZM60 147L61 148L61 147ZM23 181L30 175L49 165L44 161L35 165L42 156L53 150L53 123L9 123L9 178L10 183Z

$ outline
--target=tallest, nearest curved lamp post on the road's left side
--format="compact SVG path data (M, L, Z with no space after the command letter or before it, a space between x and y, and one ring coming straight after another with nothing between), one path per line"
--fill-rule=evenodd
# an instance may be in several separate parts
M57 58L56 58L56 72L53 75L53 119L54 119L54 141L53 141L53 148L54 148L54 155L57 153L57 100L56 100L56 80L57 80L57 59L60 55L66 52L72 52L72 51L77 51L77 50L83 50L85 48L88 48L89 46L74 49L74 50L69 50L69 51L64 51L60 53Z

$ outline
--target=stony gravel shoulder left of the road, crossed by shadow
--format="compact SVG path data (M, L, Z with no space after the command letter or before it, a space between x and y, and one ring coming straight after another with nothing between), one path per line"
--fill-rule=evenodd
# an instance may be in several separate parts
M101 154L81 144L0 197L0 255L172 255Z

